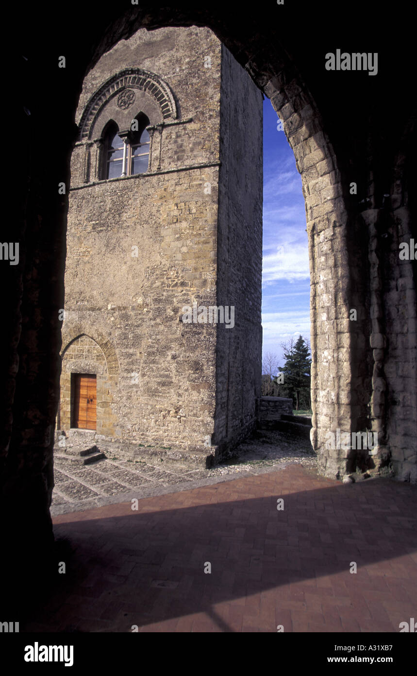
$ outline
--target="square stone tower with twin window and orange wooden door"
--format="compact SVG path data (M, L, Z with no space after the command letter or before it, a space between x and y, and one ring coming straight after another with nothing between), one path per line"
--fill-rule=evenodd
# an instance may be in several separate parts
M57 429L211 464L260 395L262 95L208 28L142 29L76 122Z

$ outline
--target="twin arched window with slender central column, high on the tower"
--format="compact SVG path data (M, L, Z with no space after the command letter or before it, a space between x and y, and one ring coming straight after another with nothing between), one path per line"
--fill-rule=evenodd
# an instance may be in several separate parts
M113 120L107 124L103 134L102 178L133 176L144 174L148 170L150 145L150 137L146 131L148 124L146 115L140 113L132 120L131 130L123 133L123 138L119 136L119 128Z

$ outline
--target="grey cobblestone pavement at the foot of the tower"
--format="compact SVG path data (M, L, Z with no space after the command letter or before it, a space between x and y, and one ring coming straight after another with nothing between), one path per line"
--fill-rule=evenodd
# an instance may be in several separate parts
M316 470L316 454L308 439L277 431L258 431L235 451L236 456L211 469L184 468L175 462L122 460L107 456L91 465L55 458L51 514L67 514L132 498L148 498L188 490L239 475L276 471L288 464Z

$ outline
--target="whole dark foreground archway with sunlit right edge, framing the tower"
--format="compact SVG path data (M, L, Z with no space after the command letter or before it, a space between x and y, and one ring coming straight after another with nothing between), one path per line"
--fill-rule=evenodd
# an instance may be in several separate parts
M308 21L305 20L307 14L302 16L304 10L308 12ZM96 5L86 7L85 3L80 3L72 5L72 11L65 15L60 30L56 32L49 30L50 11L55 11L55 7L47 3L41 8L33 3L24 7L26 24L21 22L20 33L29 58L25 56L26 60L22 59L18 69L28 87L22 92L22 106L14 121L20 127L20 138L25 147L27 143L38 147L47 128L51 151L33 153L27 166L25 164L24 171L27 168L27 173L20 184L24 186L24 196L18 200L22 205L22 218L19 225L14 222L6 224L3 235L5 241L20 241L21 260L18 266L6 266L5 314L9 321L5 322L5 338L9 351L3 407L4 519L11 535L20 535L24 527L26 532L34 533L33 537L36 534L38 548L42 543L47 545L51 542L52 533L48 512L53 485L51 431L59 393L59 310L63 308L67 214L67 195L59 192L59 184L69 185L70 155L78 134L74 116L86 72L110 47L141 27L152 30L161 26L208 26L240 64L247 66L258 86L275 101L287 133L292 125L297 127L294 127L292 143L299 155L296 155L298 166L303 172L310 260L313 262L312 347L313 378L316 382L313 392L316 402L313 441L318 450L323 446L321 430L331 426L342 427L345 423L356 425L358 420L362 424L362 420L369 418L366 402L372 396L371 350L379 349L369 345L369 274L367 268L360 269L358 261L362 259L356 260L357 247L352 245L352 239L358 232L356 220L360 208L354 200L347 199L348 186L350 180L358 180L358 176L366 173L362 192L372 208L381 210L378 186L391 185L392 155L375 154L374 149L381 143L381 137L388 140L394 149L398 147L397 130L404 128L405 120L414 110L414 89L408 82L410 71L404 66L413 62L414 43L406 34L404 16L407 12L400 9L395 16L390 16L391 38L379 49L380 64L385 63L385 68L381 68L374 78L360 73L355 77L353 73L345 74L350 76L346 78L342 77L343 73L333 73L329 78L324 68L325 52L337 47L331 34L323 31L323 18L333 16L334 12L330 1L321 5L321 12L312 12L311 3L306 3L306 7L300 3L293 7L291 3L282 7L276 3L265 3L254 12L236 11L235 7L225 6L224 3L193 7L177 3L163 8L130 5L128 9L111 4L101 6L100 11L97 11ZM339 44L345 40L345 44L349 45L354 34L357 44L366 45L363 49L372 51L374 36L385 33L385 22L386 17L378 11L377 5L364 7L363 3L358 3L356 8L350 5L339 27ZM370 25L372 32L369 31ZM77 40L74 40L74 35L77 35ZM70 68L59 69L57 55L63 51ZM293 75L294 69L299 76ZM389 107L387 126L381 110L387 110L387 92L393 91L394 81L395 105ZM316 107L312 105L313 97L308 95L308 91L314 95ZM306 96L307 100L304 99ZM285 108L288 104L289 107ZM320 111L323 127L314 128L316 109ZM300 112L302 118L299 118ZM308 122L310 113L311 122ZM303 129L301 133L304 133L304 124L310 125L311 133L308 132L308 137L296 143L298 130ZM317 134L319 136L314 141ZM335 158L327 139L334 149ZM316 147L314 143L321 145ZM328 151L323 151L324 147ZM333 163L333 160L336 160L335 164L327 172L330 168L327 162ZM323 161L326 172L321 174ZM328 177L323 186L317 183L316 191L310 195L308 191L310 187L314 190L314 180L320 181L323 176ZM344 199L338 194L340 185ZM367 233L365 239L368 240ZM348 246L343 246L343 243ZM398 260L394 249L391 254L389 270L392 272ZM327 276L331 276L328 272L330 260L337 262L339 272L337 277L333 273L333 278L328 280ZM3 270L6 271L6 267L3 266ZM408 268L412 274L407 276L415 289L411 262ZM349 318L345 314L350 306L350 292L354 295L352 306L358 306L364 318L357 336L347 324ZM383 289L385 303L401 304L401 293L396 287ZM335 308L340 308L337 315ZM408 317L404 320L408 322ZM330 328L331 322L338 323L333 324L335 330L331 332L333 344L330 345L329 341L327 347L326 329ZM394 333L395 329L392 330ZM391 349L392 359L398 359L401 367L399 373L391 374L391 388L395 393L395 379L401 379L407 372L413 377L416 364L410 356L404 360L400 353L396 356L392 345L388 349ZM412 387L414 393L415 385ZM415 401L415 397L411 401ZM414 418L408 416L406 422L410 435L415 437L413 406ZM398 411L399 407L394 406L385 415L391 417L395 424L395 443L400 448L406 426ZM329 476L335 476L337 472L340 475L345 466L341 455L337 451L333 452L333 456L330 452L322 452L322 471ZM28 500L30 513L25 508ZM16 552L21 552L22 546L18 542L16 546ZM26 540L23 549L28 547L30 543Z

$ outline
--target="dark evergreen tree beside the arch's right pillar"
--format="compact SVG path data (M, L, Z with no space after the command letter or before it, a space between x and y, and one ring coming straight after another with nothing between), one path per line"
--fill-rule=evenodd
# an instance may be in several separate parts
M285 364L281 368L284 375L284 383L287 391L296 399L296 410L300 406L300 397L308 402L310 408L310 349L301 336L295 345L291 341L289 348L283 345Z

